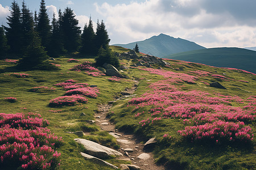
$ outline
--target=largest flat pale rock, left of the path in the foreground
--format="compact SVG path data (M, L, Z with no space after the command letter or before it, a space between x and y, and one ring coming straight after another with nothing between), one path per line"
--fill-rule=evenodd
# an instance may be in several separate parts
M95 156L97 158L109 158L110 155L123 156L122 153L113 150L112 148L102 146L96 142L88 141L86 139L74 139L77 143L80 143L85 147L86 154Z

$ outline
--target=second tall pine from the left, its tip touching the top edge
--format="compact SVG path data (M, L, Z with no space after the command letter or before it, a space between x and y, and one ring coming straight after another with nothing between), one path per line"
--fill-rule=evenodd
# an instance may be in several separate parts
M21 14L21 29L22 29L22 45L23 53L27 49L27 46L31 44L32 41L32 29L34 29L34 22L32 18L32 12L28 10L25 2L22 2L22 14Z

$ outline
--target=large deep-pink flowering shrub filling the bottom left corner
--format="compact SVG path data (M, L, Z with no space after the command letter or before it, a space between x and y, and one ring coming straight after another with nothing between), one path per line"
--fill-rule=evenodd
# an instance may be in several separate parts
M0 117L0 167L54 169L59 165L60 153L53 148L63 140L42 128L40 114L1 113Z

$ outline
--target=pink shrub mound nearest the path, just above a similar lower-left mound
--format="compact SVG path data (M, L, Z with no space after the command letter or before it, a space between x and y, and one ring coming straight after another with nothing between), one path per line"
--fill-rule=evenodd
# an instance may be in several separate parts
M72 90L68 90L64 95L83 95L91 98L96 98L100 92L97 87L83 87L83 88L75 88Z

